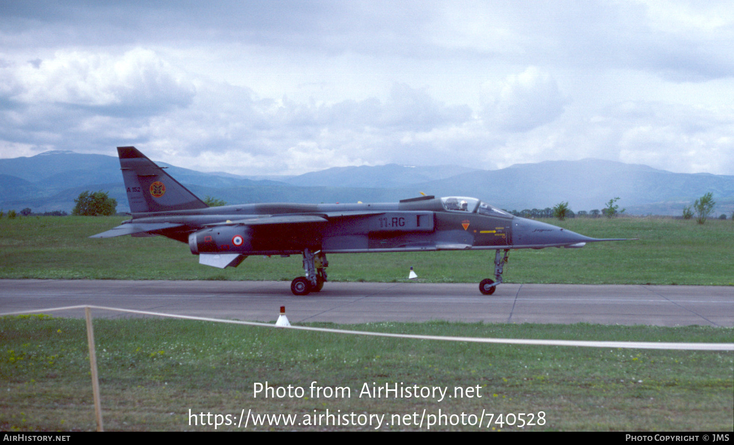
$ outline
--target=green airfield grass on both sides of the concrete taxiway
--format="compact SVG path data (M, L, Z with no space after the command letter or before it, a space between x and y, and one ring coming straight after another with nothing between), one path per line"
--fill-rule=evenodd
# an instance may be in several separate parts
M250 257L239 268L199 265L189 247L164 238L89 239L123 218L0 219L0 278L291 280L293 256ZM510 252L505 279L522 283L734 285L734 224L662 218L548 221L597 238L640 238L584 249ZM410 266L424 282L478 282L493 251L330 255L334 281L394 282ZM325 326L325 325L319 325ZM732 328L688 326L374 323L340 326L409 334L660 342L731 342ZM252 413L297 422L327 413L385 415L380 430L726 430L734 428L734 355L665 350L476 345L337 336L180 320L95 320L106 430L214 430ZM1 430L95 428L82 320L0 318ZM253 397L255 383L304 388L306 397ZM349 388L309 397L311 382ZM363 384L476 389L475 397L359 397ZM342 390L344 391L344 390ZM476 397L481 394L482 397ZM192 424L190 412L195 415ZM338 411L341 410L341 411ZM441 411L439 411L441 410ZM476 423L482 411L490 424ZM211 413L209 417L197 416ZM410 416L417 413L417 417ZM523 428L519 414L526 422ZM543 423L539 422L542 413ZM502 414L499 418L498 415ZM508 415L510 415L508 417ZM396 416L396 417L393 417ZM409 416L411 424L405 424ZM401 419L402 424L396 424ZM435 418L434 418L435 419ZM512 419L514 425L506 422ZM207 424L202 425L205 420ZM281 419L282 420L282 419ZM323 420L323 418L321 419ZM357 418L358 420L358 418ZM247 430L373 430L286 426ZM238 430L220 425L217 430ZM244 428L239 428L244 430Z

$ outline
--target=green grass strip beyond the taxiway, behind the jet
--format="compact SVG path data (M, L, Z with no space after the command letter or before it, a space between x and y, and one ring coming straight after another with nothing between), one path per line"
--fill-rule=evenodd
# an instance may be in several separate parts
M90 239L120 217L0 219L0 278L288 280L301 258L249 257L239 268L199 265L189 246L165 238ZM566 284L734 285L734 224L670 218L576 218L548 221L595 238L584 249L511 251L505 281ZM395 282L410 266L424 282L479 282L493 270L493 251L332 254L332 281Z

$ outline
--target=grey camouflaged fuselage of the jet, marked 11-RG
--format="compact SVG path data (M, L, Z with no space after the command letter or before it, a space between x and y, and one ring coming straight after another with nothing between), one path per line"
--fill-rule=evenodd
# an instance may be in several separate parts
M189 243L194 254L539 249L592 240L551 224L494 213L446 210L442 199L426 196L396 203L229 205L134 214L127 222L175 224L156 234ZM279 221L278 216L288 218ZM300 219L294 222L293 217Z

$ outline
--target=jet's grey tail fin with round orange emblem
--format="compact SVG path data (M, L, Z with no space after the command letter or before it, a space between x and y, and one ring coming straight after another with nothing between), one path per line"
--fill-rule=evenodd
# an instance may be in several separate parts
M117 147L132 213L208 207L135 147Z

